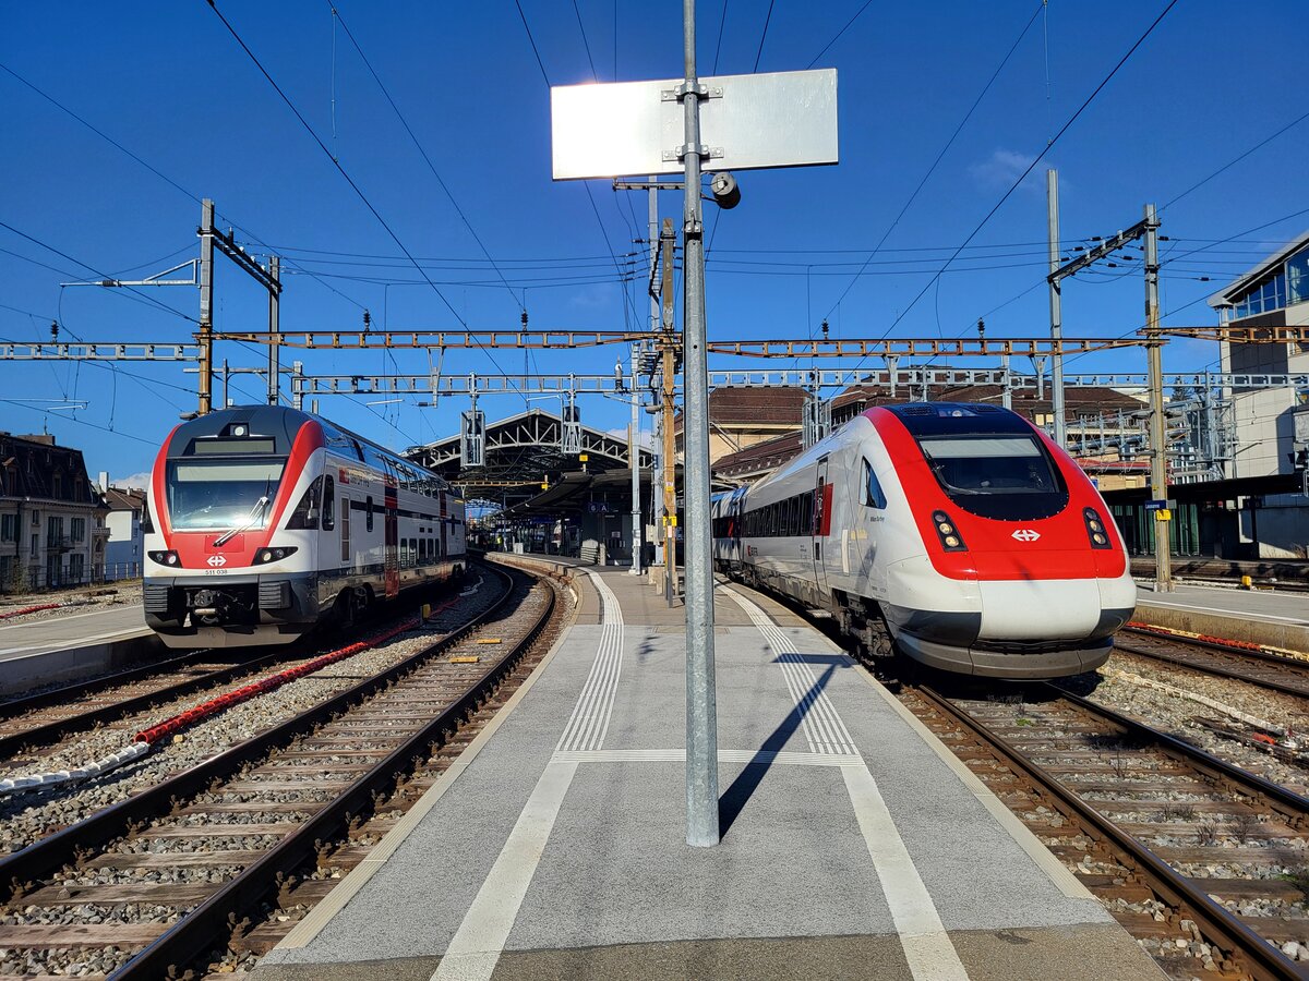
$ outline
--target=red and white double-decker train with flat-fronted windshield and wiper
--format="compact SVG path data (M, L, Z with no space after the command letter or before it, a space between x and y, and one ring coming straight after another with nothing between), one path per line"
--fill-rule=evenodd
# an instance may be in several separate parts
M170 647L285 644L466 561L463 501L440 476L274 405L177 426L148 517L145 623Z

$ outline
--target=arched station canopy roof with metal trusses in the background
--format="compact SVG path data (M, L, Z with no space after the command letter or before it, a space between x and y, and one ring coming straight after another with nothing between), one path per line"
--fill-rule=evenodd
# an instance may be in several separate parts
M619 470L631 473L626 433L606 433L577 424L576 437L579 453L564 453L564 424L559 416L528 409L486 424L486 466L462 467L459 434L414 446L406 455L454 484L465 500L505 508L537 497L543 483L555 485L564 473L581 471L583 454L590 475ZM648 450L640 450L641 468L648 470L652 459Z

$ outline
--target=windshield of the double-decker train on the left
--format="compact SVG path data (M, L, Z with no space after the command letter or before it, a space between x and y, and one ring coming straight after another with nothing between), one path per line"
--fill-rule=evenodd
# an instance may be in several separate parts
M285 460L187 460L168 464L168 511L179 531L267 527ZM253 519L253 521L251 521Z

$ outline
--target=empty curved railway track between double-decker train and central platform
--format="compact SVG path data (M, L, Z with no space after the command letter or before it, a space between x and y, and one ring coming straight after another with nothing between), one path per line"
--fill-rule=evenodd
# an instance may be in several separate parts
M511 587L462 629L0 861L0 973L164 977L206 951L249 951L250 922L279 896L295 910L325 895L327 854L361 858L403 806L397 781L433 747L457 748L461 726L545 641L556 589L486 574Z

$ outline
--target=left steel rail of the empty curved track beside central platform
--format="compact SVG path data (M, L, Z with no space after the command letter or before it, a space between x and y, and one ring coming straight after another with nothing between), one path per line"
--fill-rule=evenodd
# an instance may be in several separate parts
M499 570L496 572L499 573ZM511 577L505 576L505 579L511 579ZM407 674L423 661L463 640L483 620L499 611L508 602L512 593L511 579L509 589L491 607L432 646L404 658L381 674L373 675L339 692L327 701L319 702L298 715L266 729L243 743L238 743L216 756L211 756L204 763L175 773L160 783L128 797L126 800L119 800L117 804L97 811L76 824L68 825L63 831L58 831L27 845L21 852L14 852L10 855L0 858L0 893L8 896L21 895L34 880L48 876L67 865L69 858L76 855L79 850L98 848L113 841L115 837L127 835L132 825L139 821L153 820L161 814L168 814L173 798L185 799L203 791L213 780L232 776L270 749L284 746L296 736L312 731L321 722L330 719L336 712L346 709L353 701L367 698L374 692L381 691L391 680Z

